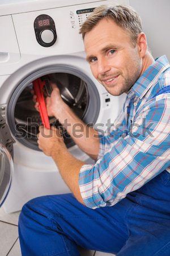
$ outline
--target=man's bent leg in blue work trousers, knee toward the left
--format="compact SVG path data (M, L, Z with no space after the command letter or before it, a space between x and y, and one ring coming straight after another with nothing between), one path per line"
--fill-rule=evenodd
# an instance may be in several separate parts
M117 253L129 236L124 220L131 207L125 199L114 207L92 210L71 194L33 199L19 218L22 255L76 256L76 245Z

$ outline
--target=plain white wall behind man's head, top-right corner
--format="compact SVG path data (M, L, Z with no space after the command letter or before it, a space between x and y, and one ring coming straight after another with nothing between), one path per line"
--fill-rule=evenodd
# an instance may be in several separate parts
M170 1L129 0L129 5L141 16L154 58L165 54L170 61Z

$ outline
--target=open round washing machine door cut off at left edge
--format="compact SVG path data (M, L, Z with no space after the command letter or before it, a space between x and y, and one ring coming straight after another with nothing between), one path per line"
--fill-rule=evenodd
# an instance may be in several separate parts
M10 130L0 114L0 207L10 190L13 175L13 143Z

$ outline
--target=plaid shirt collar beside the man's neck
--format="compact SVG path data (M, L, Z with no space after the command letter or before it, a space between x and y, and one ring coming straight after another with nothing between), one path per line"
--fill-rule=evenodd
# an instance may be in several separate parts
M169 68L169 62L165 55L159 57L155 62L146 69L146 71L139 77L135 84L129 90L127 97L133 98L137 96L143 98L151 86L158 81L158 77L165 69Z

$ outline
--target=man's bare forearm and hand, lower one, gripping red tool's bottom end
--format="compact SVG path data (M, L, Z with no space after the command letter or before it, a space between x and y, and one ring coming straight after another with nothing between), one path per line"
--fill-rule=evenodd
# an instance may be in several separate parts
M58 130L52 127L51 130L40 127L40 133L37 134L39 148L45 155L51 156L56 163L59 173L63 180L73 192L75 198L82 204L82 196L79 190L79 171L84 162L74 158L67 150L63 138Z

